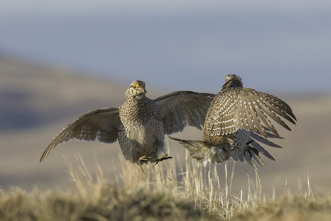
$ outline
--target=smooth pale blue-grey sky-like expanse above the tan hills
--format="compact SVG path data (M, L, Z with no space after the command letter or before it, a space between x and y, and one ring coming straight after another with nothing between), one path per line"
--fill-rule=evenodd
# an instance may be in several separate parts
M147 88L329 93L331 1L0 1L0 54ZM278 94L276 94L278 95Z

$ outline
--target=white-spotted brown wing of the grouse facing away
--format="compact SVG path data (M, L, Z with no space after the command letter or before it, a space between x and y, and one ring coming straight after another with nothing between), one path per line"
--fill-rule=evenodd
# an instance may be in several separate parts
M207 113L208 130L212 136L219 136L233 133L239 128L251 129L260 131L267 138L263 122L279 137L270 118L291 130L280 116L293 124L297 120L290 106L279 98L250 88L233 88L215 96Z

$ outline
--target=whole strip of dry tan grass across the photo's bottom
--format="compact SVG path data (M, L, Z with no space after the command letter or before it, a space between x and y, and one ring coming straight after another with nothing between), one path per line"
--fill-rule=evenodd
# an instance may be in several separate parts
M225 166L221 188L216 167L206 173L188 156L183 167L165 161L144 172L120 156L117 184L105 179L97 160L93 179L79 154L76 159L78 169L65 157L76 191L2 190L0 220L331 220L330 195L314 196L309 177L305 190L298 185L299 193L267 198L257 173L254 184L248 177L248 191L231 194L235 164L229 179Z

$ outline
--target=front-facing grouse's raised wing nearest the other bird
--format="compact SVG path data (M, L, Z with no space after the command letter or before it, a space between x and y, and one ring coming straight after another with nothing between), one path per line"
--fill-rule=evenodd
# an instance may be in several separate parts
M175 91L155 99L165 134L182 132L188 126L202 130L214 94Z

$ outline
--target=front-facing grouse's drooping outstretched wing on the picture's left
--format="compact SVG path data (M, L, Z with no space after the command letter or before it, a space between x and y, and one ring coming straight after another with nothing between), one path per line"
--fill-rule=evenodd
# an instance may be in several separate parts
M49 143L40 158L40 162L48 157L49 152L60 143L69 140L95 141L114 143L117 140L118 108L103 108L88 111L65 128Z

